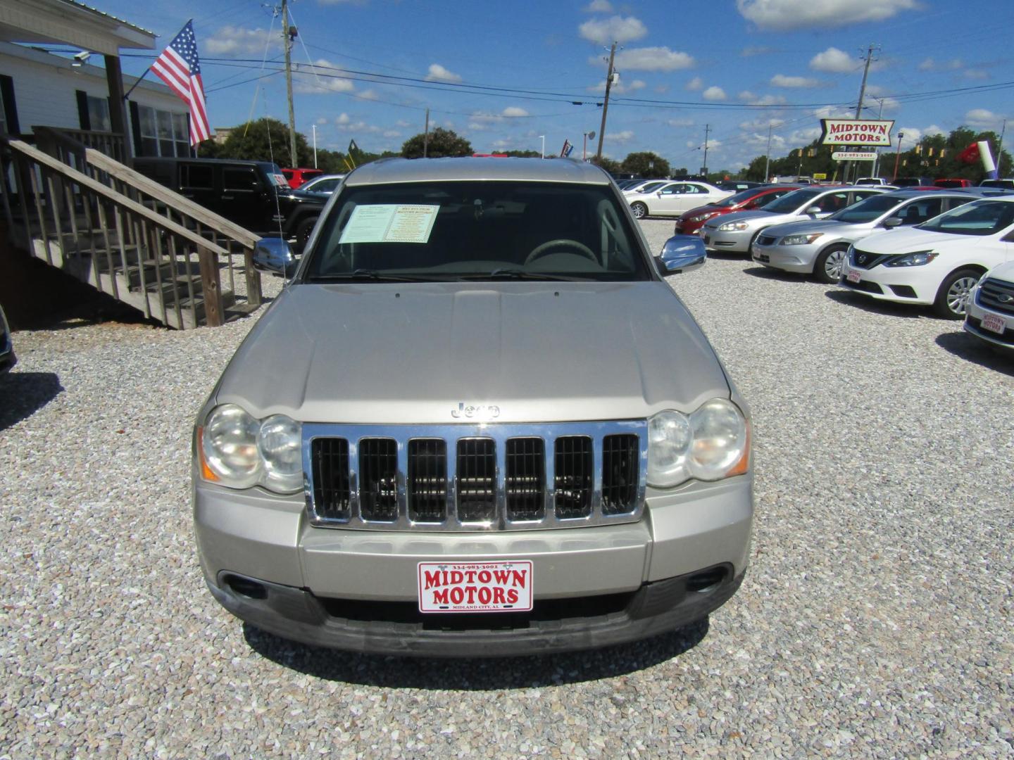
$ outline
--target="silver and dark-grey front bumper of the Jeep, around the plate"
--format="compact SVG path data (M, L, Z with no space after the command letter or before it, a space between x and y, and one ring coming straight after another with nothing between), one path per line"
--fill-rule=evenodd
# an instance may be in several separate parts
M481 534L314 528L301 498L258 488L199 483L194 500L205 579L241 619L307 643L448 657L600 647L704 617L742 579L753 513L748 475L649 492L638 523ZM420 561L480 559L530 559L534 610L467 615L464 630L418 612Z

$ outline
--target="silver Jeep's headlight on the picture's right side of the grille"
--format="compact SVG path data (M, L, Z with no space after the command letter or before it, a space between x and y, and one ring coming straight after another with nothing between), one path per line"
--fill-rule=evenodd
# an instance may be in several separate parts
M746 472L749 431L743 413L713 398L693 414L660 411L648 421L648 482L660 488L696 477L719 480Z

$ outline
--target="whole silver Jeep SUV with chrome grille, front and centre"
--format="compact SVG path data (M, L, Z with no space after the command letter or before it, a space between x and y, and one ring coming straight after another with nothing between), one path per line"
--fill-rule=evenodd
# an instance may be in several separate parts
M212 594L280 636L444 657L707 616L753 502L749 413L663 279L704 260L653 257L588 164L350 173L197 419Z

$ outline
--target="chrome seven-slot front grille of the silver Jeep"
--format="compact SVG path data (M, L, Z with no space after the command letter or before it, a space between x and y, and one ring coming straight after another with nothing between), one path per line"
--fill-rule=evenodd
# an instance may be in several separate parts
M531 530L633 522L644 421L304 425L306 505L319 527Z

